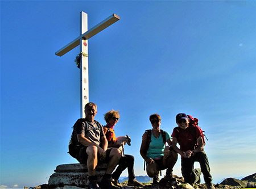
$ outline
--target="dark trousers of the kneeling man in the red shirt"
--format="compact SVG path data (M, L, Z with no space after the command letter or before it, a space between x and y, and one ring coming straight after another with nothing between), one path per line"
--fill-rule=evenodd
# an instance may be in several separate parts
M190 158L181 158L181 173L185 182L193 184L199 179L200 175L194 170L194 163L196 161L200 163L201 173L204 175L205 183L212 182L208 157L204 151L195 153L195 155Z

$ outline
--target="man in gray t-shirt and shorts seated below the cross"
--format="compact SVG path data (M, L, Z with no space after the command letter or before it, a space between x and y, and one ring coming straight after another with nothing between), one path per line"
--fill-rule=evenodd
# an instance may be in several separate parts
M97 114L97 105L89 102L85 105L85 119L77 120L74 125L76 140L76 159L86 164L89 171L90 189L115 189L110 182L110 177L118 165L121 151L117 148L108 148L108 141L102 125L94 120ZM108 162L106 173L101 182L97 184L96 166L98 163Z

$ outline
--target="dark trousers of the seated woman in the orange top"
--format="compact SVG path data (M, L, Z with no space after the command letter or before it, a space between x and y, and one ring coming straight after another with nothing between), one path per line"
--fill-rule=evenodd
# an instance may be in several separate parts
M121 157L118 163L117 169L115 169L112 174L113 179L119 179L120 175L125 169L128 169L128 178L129 180L135 179L134 174L134 157L131 155L125 154L125 156Z

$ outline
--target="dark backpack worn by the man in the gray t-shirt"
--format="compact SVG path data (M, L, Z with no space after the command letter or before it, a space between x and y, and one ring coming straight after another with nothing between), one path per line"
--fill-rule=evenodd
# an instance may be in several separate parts
M73 158L76 158L77 157L77 154L79 153L80 149L84 146L82 144L80 144L79 142L77 142L76 140L76 135L75 135L75 127L76 127L76 124L78 121L81 121L85 123L85 132L88 130L88 123L87 121L85 120L85 118L80 118L76 121L76 123L73 125L73 132L72 132L72 135L71 135L71 139L69 140L69 144L68 144L68 153L73 157ZM98 126L98 129L100 129L101 125L100 123L98 123L98 121L94 120L95 123L97 124Z

